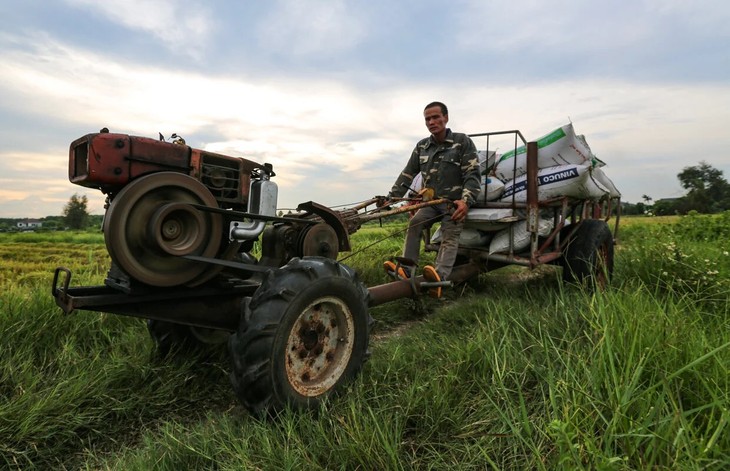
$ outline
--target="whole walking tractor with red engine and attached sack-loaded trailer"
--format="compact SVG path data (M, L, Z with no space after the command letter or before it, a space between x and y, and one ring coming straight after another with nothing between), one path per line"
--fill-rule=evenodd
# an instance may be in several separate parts
M515 149L497 156L489 141L504 135L514 136ZM344 210L310 201L281 217L269 164L194 149L179 138L88 134L71 143L69 178L107 195L103 232L111 266L103 285L78 287L67 268L57 268L53 297L65 313L146 319L163 353L227 341L236 395L258 413L316 407L355 377L368 356L372 306L505 265L561 265L566 280L604 286L613 270L619 205L615 188L586 189L583 175L600 183L596 159L583 152L579 164L546 165L541 161L555 139L528 143L519 131L474 137L487 140L480 151L483 191L449 280L401 278L395 270L392 281L368 288L337 261L351 250L350 235L368 221L444 200L411 199L399 207L383 206L376 196ZM559 174L583 178L581 189L558 185L550 193ZM547 193L539 192L543 187ZM424 235L426 250L438 250L438 231Z

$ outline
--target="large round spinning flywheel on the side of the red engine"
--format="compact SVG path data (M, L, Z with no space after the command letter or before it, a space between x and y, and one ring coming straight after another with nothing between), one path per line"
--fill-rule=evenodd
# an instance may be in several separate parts
M182 173L158 172L125 186L104 217L104 240L112 260L130 277L152 286L190 283L208 269L181 255L214 257L221 244L217 208L200 182Z

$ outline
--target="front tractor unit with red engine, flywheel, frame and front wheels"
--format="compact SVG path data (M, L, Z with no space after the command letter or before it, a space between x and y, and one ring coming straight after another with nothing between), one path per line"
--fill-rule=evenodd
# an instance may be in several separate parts
M56 304L145 319L161 355L228 344L233 388L253 412L314 407L367 356L368 290L336 261L359 222L311 201L277 216L273 176L181 139L75 140L69 179L107 195L112 263L103 286L72 287L57 267Z

